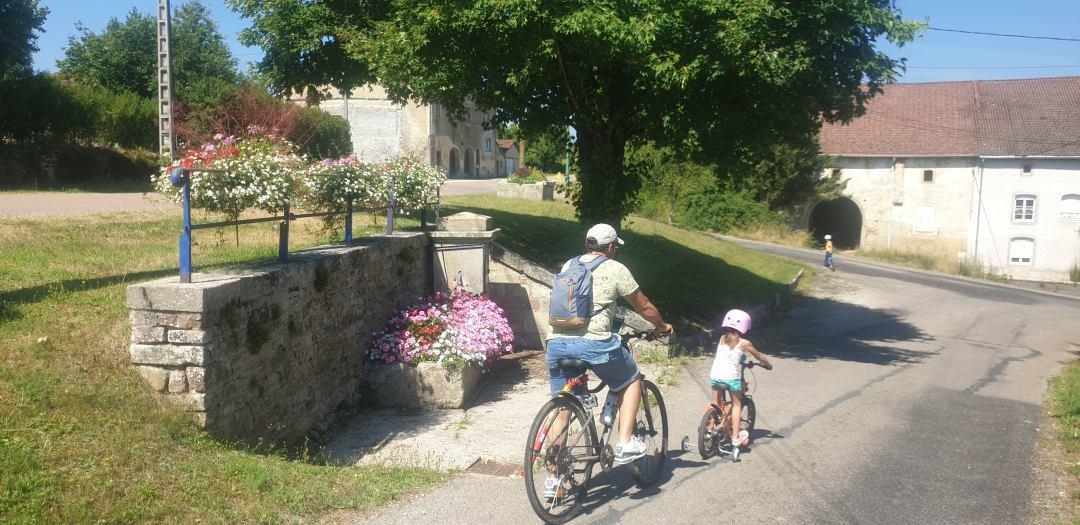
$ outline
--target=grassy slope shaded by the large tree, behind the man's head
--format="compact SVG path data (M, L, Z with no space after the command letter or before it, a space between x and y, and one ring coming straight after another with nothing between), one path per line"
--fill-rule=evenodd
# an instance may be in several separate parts
M589 229L573 218L569 205L557 202L469 196L446 198L443 205L444 215L469 210L492 217L502 229L496 242L552 269L581 253ZM730 308L761 304L799 268L656 220L631 217L623 227L626 245L618 259L667 321L681 326L711 326Z

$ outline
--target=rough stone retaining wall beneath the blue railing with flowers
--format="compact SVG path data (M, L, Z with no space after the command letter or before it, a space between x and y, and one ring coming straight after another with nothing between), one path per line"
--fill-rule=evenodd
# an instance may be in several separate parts
M360 401L372 333L430 291L422 233L136 284L132 363L215 436L296 442Z

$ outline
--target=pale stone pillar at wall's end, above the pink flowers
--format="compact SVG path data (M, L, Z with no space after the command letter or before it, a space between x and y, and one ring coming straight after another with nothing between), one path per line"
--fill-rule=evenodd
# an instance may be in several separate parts
M487 294L491 242L499 232L485 215L462 212L444 218L440 230L429 233L434 290L449 292L460 281L473 294Z

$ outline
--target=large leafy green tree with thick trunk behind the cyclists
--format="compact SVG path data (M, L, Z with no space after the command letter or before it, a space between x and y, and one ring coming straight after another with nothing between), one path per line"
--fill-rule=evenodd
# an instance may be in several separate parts
M279 92L377 80L399 102L467 100L523 133L572 125L579 216L619 224L626 145L713 159L859 115L919 29L892 0L230 0Z

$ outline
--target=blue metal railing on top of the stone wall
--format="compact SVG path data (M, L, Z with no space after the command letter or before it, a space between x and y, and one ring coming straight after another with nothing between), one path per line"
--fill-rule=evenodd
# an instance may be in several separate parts
M285 205L285 210L282 215L273 217L257 217L249 219L238 219L238 220L221 220L216 223L202 223L192 224L191 223L191 177L195 173L225 173L225 170L203 170L198 167L177 167L173 170L168 179L173 183L173 186L181 188L183 194L183 206L184 206L184 229L180 232L179 239L179 258L180 258L180 282L190 283L191 282L191 233L194 230L201 230L206 228L220 228L224 226L240 226L240 225L252 225L256 223L270 223L278 220L280 221L278 228L278 260L288 260L288 224L296 219L309 218L309 217L332 217L335 215L345 215L345 244L347 246L352 245L352 215L354 213L363 212L387 212L387 234L391 235L394 232L394 214L397 211L397 205L395 202L395 186L391 184L390 187L390 203L384 207L360 207L355 208L352 205L352 200L346 202L345 210L339 210L335 212L316 212L316 213L301 213L294 214L289 212L288 204ZM435 202L424 203L420 208L420 228L427 229L428 220L428 206L433 206L435 212L435 224L438 223L440 215L440 192L435 193Z

